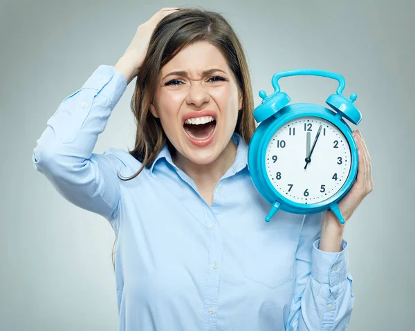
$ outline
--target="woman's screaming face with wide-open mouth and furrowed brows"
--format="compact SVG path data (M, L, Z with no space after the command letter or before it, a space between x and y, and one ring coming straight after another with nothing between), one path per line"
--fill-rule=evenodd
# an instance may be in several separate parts
M242 95L225 57L199 41L163 66L151 113L178 153L210 164L230 143L241 108Z

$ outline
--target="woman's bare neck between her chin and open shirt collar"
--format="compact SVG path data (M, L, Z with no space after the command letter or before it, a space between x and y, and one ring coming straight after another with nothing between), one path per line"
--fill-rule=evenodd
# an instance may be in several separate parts
M237 145L232 139L225 149L210 164L196 164L174 151L172 159L176 166L192 178L198 187L215 187L216 183L232 166L237 155Z

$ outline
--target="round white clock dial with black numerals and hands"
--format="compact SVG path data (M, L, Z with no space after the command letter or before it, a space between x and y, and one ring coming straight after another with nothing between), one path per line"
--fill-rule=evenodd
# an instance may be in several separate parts
M297 117L275 131L266 147L265 164L270 182L282 196L313 204L342 188L351 170L351 150L333 123Z

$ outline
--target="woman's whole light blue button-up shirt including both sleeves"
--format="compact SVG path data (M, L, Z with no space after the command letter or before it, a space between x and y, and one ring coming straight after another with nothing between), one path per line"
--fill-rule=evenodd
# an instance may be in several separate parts
M172 162L149 169L128 151L93 153L127 82L99 66L47 122L33 164L69 202L109 221L116 238L119 330L346 330L353 309L347 241L319 247L322 215L270 205L248 171L248 146L214 189L212 206Z

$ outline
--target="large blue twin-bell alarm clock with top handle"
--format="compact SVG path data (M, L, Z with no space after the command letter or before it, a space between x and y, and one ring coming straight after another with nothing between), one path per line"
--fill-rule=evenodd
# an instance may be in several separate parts
M288 104L278 80L296 75L336 79L339 86L326 108L317 104ZM340 223L337 202L351 189L358 173L358 149L344 121L359 124L362 114L353 104L357 95L344 97L342 75L301 69L275 73L274 93L259 91L262 102L254 110L259 125L248 146L248 169L257 191L271 205L269 222L282 209L295 214L315 214L331 209Z

